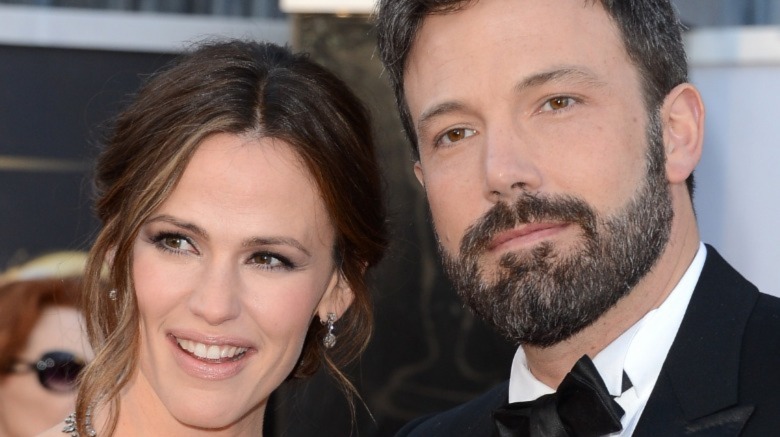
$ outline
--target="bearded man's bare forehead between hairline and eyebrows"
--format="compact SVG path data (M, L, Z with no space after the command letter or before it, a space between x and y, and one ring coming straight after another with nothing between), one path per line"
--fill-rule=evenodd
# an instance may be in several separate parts
M617 27L603 8L582 0L480 0L467 8L427 17L406 62L404 87L414 99L412 82L423 80L429 95L451 77L488 80L497 70L526 76L579 72L597 82L596 58L605 51L630 63ZM489 25L485 25L489 23ZM612 46L612 47L610 47ZM606 50L609 49L609 50ZM592 56L591 56L592 55Z

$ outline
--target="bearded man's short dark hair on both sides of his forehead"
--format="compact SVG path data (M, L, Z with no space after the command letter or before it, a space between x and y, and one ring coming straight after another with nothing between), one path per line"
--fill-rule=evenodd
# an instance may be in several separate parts
M404 69L422 22L428 15L447 14L478 0L380 0L376 18L379 54L395 92L401 123L412 145L414 159L420 152L414 122L404 96ZM666 95L688 81L688 61L682 41L682 25L670 0L583 0L601 3L615 22L629 58L639 70L648 113L657 111ZM693 174L686 181L693 195Z

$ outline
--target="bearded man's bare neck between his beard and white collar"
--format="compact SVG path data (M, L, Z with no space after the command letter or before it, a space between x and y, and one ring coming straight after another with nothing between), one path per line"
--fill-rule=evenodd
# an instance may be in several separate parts
M688 214L686 214L688 215ZM593 358L651 310L658 308L690 266L699 247L693 212L678 217L669 243L644 278L596 322L550 347L524 345L528 368L549 387L558 387L583 355ZM681 226L683 224L684 226Z

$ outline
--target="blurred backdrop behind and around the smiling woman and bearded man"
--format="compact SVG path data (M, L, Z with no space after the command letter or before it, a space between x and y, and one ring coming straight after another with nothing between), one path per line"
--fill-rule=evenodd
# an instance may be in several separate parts
M692 81L707 105L696 208L714 244L780 295L780 0L677 0ZM376 334L352 375L366 407L353 435L392 435L508 377L513 349L441 273L422 191L375 55L370 0L0 0L0 270L88 249L91 163L145 75L216 36L288 44L336 71L372 108L393 246L374 272ZM274 398L269 436L344 436L328 378ZM369 413L370 411L370 413Z

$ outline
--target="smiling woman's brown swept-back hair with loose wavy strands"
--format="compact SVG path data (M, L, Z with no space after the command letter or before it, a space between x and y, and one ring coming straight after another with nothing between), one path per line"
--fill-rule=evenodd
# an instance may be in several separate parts
M77 415L85 417L96 402L107 404L110 432L118 419L118 394L137 364L133 242L198 146L215 133L282 140L316 181L335 228L334 261L354 301L339 320L338 343L327 353L321 344L325 328L312 321L290 378L310 376L324 364L350 403L356 394L341 368L359 356L371 336L365 273L387 246L368 111L341 80L305 54L270 43L211 41L142 86L98 158L95 209L102 228L90 252L84 305L96 357L83 374ZM116 300L99 285L106 263ZM79 432L86 435L80 422Z

